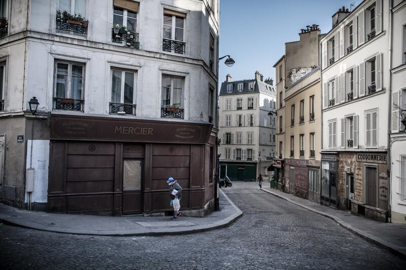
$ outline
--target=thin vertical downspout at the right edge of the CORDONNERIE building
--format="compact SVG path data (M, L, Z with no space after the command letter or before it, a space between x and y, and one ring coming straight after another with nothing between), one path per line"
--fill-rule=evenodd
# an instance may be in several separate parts
M392 74L390 72L392 68L392 7L393 7L393 0L389 0L389 61L388 61L388 95L389 95L389 104L388 104L388 144L387 144L387 171L388 171L388 177L390 179L389 181L389 204L388 204L388 219L389 222L391 222L391 208L392 208L392 160L391 160L391 143L390 143L390 133L392 132L391 130L391 114L392 114Z

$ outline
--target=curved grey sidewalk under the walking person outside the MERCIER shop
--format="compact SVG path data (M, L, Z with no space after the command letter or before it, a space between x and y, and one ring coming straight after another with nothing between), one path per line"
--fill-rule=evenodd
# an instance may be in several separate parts
M51 214L21 210L0 204L0 222L31 229L89 235L164 235L213 230L230 225L243 212L220 190L220 211L204 218L92 216Z

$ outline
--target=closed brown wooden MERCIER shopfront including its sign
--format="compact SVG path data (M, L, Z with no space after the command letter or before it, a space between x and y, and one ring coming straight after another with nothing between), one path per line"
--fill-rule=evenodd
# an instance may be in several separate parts
M214 199L215 137L209 124L52 118L50 212L121 215L170 211L173 176L182 209ZM212 173L209 171L212 170Z

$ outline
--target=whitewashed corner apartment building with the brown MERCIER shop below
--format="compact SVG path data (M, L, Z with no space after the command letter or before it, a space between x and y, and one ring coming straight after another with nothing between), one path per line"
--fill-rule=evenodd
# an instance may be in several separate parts
M2 0L0 200L63 213L214 207L219 1Z

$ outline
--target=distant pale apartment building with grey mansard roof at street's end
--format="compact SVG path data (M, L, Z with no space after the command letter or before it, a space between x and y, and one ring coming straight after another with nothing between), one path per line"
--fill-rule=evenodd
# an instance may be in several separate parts
M220 175L231 180L267 179L276 153L276 95L272 80L259 72L251 80L221 84L219 95Z

